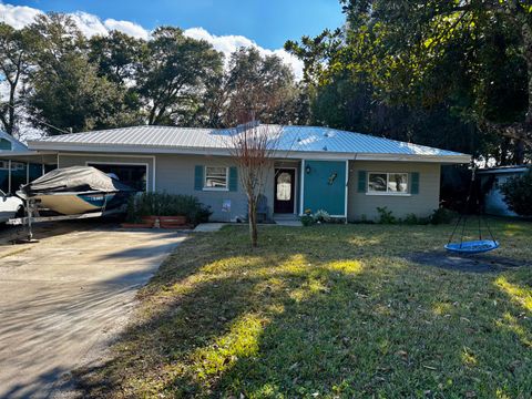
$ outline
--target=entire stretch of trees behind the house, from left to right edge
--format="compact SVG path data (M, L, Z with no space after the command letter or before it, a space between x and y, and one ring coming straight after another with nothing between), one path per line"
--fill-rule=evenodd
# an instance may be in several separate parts
M317 124L474 154L532 156L530 0L339 0L346 23L287 41L304 79L276 55L229 59L175 27L147 40L88 39L59 13L0 23L0 127L49 134L165 124Z

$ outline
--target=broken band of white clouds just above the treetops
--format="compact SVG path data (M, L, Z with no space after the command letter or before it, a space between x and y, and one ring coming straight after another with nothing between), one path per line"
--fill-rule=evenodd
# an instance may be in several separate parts
M0 0L0 21L17 29L30 24L39 13L42 13L42 11L25 6L4 4ZM88 38L93 37L94 34L108 34L111 30L117 30L134 38L147 39L150 37L149 30L131 21L119 21L112 18L102 21L99 17L83 11L73 12L71 16L82 33ZM223 52L226 60L232 52L241 47L254 47L262 54L278 55L286 64L291 66L296 79L303 76L303 62L286 52L284 49L264 49L246 37L235 34L215 35L203 28L186 29L185 34L190 38L206 40L213 44L216 50Z

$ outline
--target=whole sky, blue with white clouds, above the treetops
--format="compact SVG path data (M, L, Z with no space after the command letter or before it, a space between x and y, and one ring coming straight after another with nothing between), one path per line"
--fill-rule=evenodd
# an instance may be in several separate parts
M297 78L303 64L283 50L285 41L344 23L338 0L0 0L0 21L16 28L43 11L71 13L88 37L116 29L145 39L157 25L171 24L225 54L254 45L279 55Z

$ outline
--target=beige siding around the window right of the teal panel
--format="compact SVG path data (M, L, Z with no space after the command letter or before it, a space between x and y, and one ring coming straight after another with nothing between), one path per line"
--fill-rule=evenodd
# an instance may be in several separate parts
M408 196L369 195L358 192L358 172L419 173L419 194ZM409 192L411 182L409 181ZM348 183L348 221L376 219L377 207L387 206L396 217L408 214L428 216L439 206L440 164L417 162L350 161Z

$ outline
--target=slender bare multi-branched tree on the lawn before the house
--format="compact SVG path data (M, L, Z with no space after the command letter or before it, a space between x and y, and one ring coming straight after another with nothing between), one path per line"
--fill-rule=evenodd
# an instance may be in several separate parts
M253 117L229 130L227 149L236 163L239 183L247 196L252 247L258 245L257 205L274 167L282 130L277 125L262 125Z

